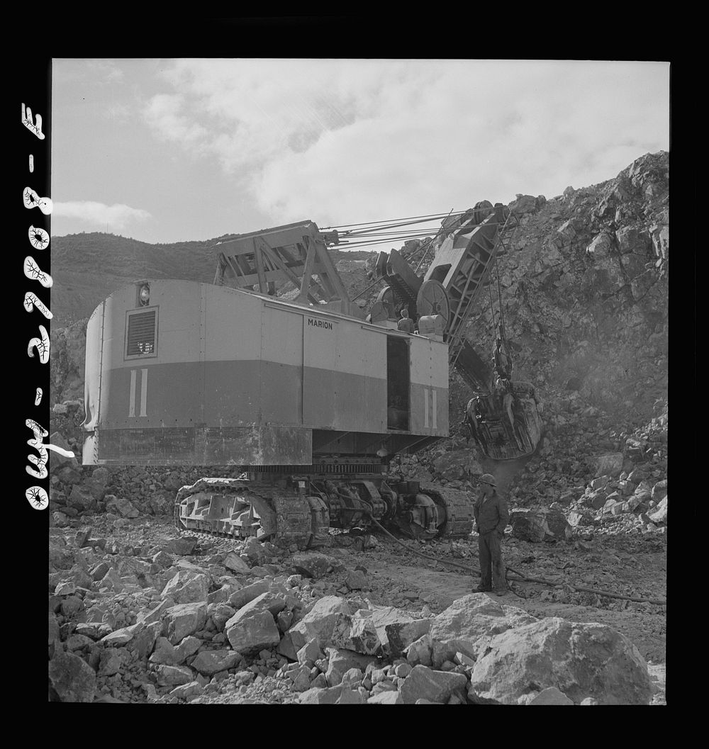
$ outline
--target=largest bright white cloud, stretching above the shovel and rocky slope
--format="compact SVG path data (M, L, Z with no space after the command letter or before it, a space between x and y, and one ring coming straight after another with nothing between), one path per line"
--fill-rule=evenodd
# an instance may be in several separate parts
M456 210L612 178L669 145L669 66L177 60L145 112L276 222Z

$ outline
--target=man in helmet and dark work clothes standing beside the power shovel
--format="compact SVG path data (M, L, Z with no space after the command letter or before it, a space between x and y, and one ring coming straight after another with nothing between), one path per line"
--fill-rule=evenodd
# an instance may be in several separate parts
M495 590L497 595L507 592L507 579L504 574L501 541L510 513L507 502L497 492L495 476L483 473L480 476L483 493L475 503L473 515L477 524L477 548L480 552L480 585L478 592Z

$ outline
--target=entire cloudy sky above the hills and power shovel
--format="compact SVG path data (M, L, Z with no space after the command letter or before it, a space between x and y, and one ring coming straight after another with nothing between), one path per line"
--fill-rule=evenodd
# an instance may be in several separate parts
M52 63L55 236L171 243L447 213L551 198L657 151L666 62Z

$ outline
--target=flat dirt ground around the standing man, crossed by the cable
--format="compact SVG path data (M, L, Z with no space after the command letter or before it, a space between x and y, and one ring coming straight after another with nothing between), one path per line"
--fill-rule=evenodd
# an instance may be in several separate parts
M455 598L472 592L480 578L444 564L429 562L406 551L387 537L378 537L378 547L357 554L352 560L343 556L343 563L360 564L372 579L381 583L381 597L391 589L402 591L403 607L420 609L422 604L437 613ZM412 544L412 542L407 542ZM503 553L508 565L528 577L558 577L571 584L632 595L639 598L666 597L666 547L657 539L599 537L580 550L573 542L565 545L531 544L506 537ZM639 551L642 547L646 551ZM448 544L415 544L411 548L439 557L477 567L477 540ZM450 551L447 551L450 549ZM632 552L630 551L632 550ZM338 550L338 555L346 550ZM459 556L465 554L465 557ZM634 552L634 553L633 553ZM553 571L552 571L553 570ZM375 586L375 593L377 586ZM651 603L621 601L591 593L550 589L538 583L513 582L504 598L492 597L505 604L525 609L533 616L561 616L573 622L608 624L630 639L642 656L654 664L665 662L666 607ZM415 597L414 597L415 596ZM372 602L390 604L391 601Z

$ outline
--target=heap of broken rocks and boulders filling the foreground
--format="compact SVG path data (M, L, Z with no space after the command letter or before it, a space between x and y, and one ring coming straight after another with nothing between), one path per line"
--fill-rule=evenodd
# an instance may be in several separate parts
M255 539L127 548L58 528L50 538L52 700L528 704L556 688L574 704L645 704L653 694L635 646L606 625L537 619L484 594L438 616L373 604L325 582L338 569L349 579L337 557ZM318 571L295 571L306 567Z

